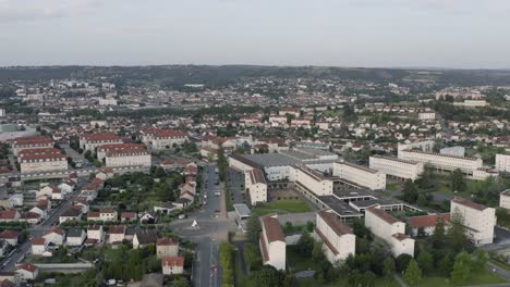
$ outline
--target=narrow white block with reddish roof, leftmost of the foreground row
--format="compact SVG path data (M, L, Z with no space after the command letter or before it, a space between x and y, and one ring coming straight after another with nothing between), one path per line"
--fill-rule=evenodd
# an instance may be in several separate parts
M260 217L262 233L259 238L260 254L264 265L286 270L287 244L277 214Z

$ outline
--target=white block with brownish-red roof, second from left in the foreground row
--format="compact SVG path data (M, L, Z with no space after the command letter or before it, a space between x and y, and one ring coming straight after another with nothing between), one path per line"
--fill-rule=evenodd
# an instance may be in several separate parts
M314 237L324 242L324 253L332 264L355 254L356 236L330 210L317 212Z

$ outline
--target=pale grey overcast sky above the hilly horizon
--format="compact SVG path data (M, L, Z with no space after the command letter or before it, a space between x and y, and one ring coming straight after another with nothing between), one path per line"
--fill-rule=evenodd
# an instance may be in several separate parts
M509 0L0 0L0 65L510 68Z

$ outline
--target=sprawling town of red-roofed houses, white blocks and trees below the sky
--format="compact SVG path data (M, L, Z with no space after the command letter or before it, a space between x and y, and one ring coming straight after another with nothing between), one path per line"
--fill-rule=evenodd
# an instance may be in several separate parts
M19 68L0 68L1 287L509 284L509 86Z

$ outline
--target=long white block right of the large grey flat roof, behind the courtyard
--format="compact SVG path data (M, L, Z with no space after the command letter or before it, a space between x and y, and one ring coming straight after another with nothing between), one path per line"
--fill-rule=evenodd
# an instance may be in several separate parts
M386 174L357 164L348 162L333 163L332 174L371 190L386 188Z

